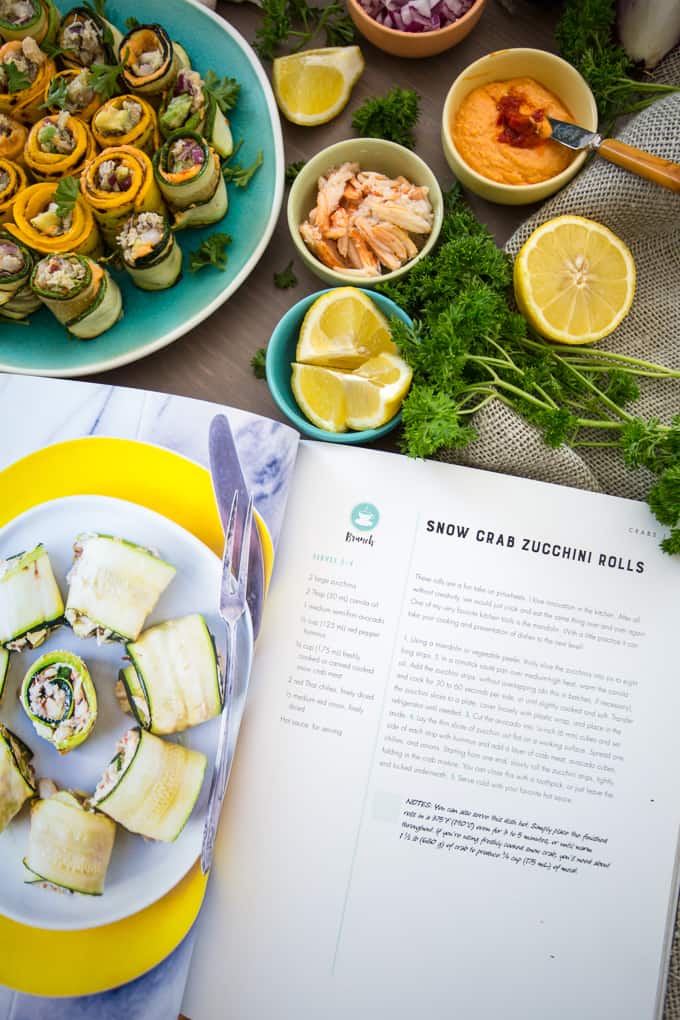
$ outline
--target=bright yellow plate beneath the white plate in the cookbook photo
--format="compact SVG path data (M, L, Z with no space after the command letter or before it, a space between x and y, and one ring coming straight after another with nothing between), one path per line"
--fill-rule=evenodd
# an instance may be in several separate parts
M60 496L113 496L163 514L218 556L224 534L208 471L161 447L88 437L30 454L0 471L0 526ZM273 546L258 516L267 582ZM37 996L87 996L151 970L179 945L203 902L197 864L174 888L130 917L82 931L47 931L0 914L0 984ZM36 961L40 966L36 966ZM77 966L64 966L75 960Z

